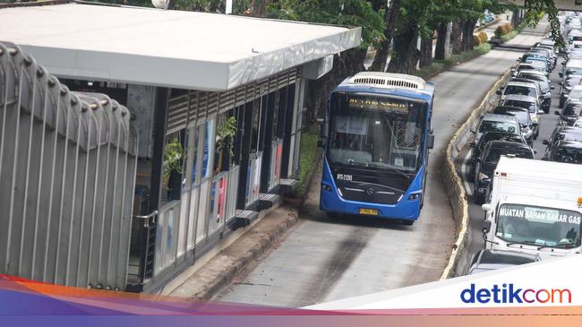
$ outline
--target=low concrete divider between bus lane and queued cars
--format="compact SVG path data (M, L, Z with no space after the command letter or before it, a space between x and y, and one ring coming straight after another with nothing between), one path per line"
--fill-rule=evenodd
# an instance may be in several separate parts
M441 280L455 276L458 262L462 254L464 254L463 250L466 244L471 242L469 204L466 199L463 180L461 176L458 176L455 162L463 147L472 139L471 130L479 125L481 116L491 111L497 105L499 97L495 94L495 91L509 80L510 75L511 71L509 70L501 76L500 80L493 84L492 88L485 94L481 103L471 111L471 115L466 119L466 122L458 128L457 133L453 135L447 146L443 178L445 189L449 196L450 206L453 210L453 219L455 219L457 225L457 237L449 257L449 262L442 272Z

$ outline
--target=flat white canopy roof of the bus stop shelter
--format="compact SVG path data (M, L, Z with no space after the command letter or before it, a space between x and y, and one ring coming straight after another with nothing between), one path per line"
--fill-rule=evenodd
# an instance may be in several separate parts
M360 44L361 29L90 4L0 9L0 40L60 77L229 90Z

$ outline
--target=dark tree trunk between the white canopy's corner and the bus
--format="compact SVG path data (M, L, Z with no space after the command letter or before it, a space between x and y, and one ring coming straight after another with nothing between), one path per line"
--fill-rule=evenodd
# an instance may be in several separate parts
M364 71L366 49L356 47L333 57L333 68L319 80L309 81L305 108L310 125L325 112L330 92L347 76Z

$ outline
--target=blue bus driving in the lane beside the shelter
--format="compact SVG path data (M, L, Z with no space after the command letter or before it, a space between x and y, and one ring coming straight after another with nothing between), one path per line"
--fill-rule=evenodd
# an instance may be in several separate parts
M321 126L321 211L418 219L433 98L432 83L398 73L357 73L332 90Z

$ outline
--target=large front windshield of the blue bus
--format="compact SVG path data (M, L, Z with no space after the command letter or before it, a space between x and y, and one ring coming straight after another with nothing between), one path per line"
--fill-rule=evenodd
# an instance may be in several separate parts
M422 158L426 106L381 95L335 93L330 106L330 163L415 172Z

